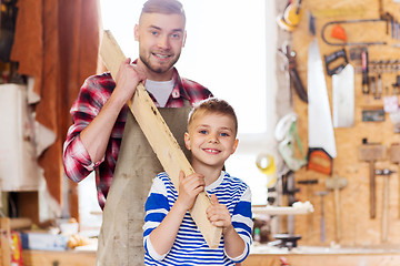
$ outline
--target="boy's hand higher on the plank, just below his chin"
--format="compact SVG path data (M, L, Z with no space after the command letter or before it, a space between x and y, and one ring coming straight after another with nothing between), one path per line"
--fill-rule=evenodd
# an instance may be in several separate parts
M194 173L184 176L184 173L181 171L179 173L179 195L176 204L184 208L184 211L189 211L192 208L197 195L204 191L204 186L203 175Z

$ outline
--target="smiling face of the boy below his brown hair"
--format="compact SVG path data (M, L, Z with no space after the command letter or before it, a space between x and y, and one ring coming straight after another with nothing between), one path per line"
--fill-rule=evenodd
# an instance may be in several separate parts
M184 143L192 153L193 166L222 168L238 146L232 117L219 113L199 114L184 134Z

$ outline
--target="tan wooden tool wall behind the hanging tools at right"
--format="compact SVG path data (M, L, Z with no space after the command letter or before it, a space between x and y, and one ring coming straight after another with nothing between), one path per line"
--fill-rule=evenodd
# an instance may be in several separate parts
M384 113L384 121L366 122L362 121L363 110L383 110L383 99L396 95L393 83L397 83L397 75L400 69L396 64L386 64L387 70L381 73L382 94L377 99L370 92L368 95L362 93L361 60L357 53L364 45L330 45L321 39L321 29L327 22L354 20L354 19L379 19L380 9L383 13L389 12L394 20L400 21L400 3L393 0L326 0L313 1L303 0L301 2L301 22L292 33L293 50L297 52L297 63L300 78L307 88L307 59L308 48L312 40L309 32L309 16L311 11L316 18L316 37L324 65L323 55L331 54L340 49L346 49L349 63L354 66L354 123L350 127L334 129L337 145L337 157L333 160L332 175L308 170L307 167L296 172L296 182L304 180L318 180L317 185L296 184L300 192L296 194L299 201L310 201L314 206L314 213L310 215L296 216L296 233L302 236L300 245L329 245L336 237L336 212L334 197L332 191L323 198L323 211L326 219L326 242L320 241L321 221L321 197L316 193L327 191L326 180L338 175L347 180L348 184L339 193L340 197L340 227L341 236L339 243L349 246L373 246L380 244L400 244L400 168L398 164L391 163L389 149L393 143L400 143L400 134L394 133L394 125L389 115ZM344 29L347 42L380 42L387 44L368 45L369 61L398 60L400 62L400 40L392 37L391 23L389 22L389 33L387 34L386 22L364 22L364 23L340 23ZM327 40L334 43L343 43L339 39L331 38L331 29L327 27L324 35ZM396 29L396 27L394 27ZM399 34L399 32L398 32ZM351 51L350 51L351 49ZM350 53L351 52L351 53ZM352 59L351 59L352 58ZM393 63L393 62L392 62ZM394 62L396 63L396 62ZM334 66L334 63L332 63ZM369 76L376 76L376 88L378 90L378 72L372 71L370 64ZM397 66L397 68L396 68ZM327 70L324 69L324 73ZM332 109L332 78L326 74L328 96ZM372 84L370 84L372 85ZM299 114L298 131L303 146L308 145L308 104L294 96L294 110ZM332 112L332 110L331 110ZM380 117L378 117L380 119ZM389 217L388 217L388 241L382 239L382 213L383 213L383 176L376 176L376 217L370 216L370 170L369 163L359 157L359 147L362 139L368 143L379 143L387 147L386 158L376 163L377 170L390 168L396 171L390 175L389 187Z

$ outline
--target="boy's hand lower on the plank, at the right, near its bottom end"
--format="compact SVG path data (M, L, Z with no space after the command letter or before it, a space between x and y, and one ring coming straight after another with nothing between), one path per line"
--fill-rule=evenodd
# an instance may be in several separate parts
M207 218L214 226L222 227L223 232L231 228L232 221L227 206L223 204L219 204L218 198L214 194L211 195L211 203L212 205L207 208Z

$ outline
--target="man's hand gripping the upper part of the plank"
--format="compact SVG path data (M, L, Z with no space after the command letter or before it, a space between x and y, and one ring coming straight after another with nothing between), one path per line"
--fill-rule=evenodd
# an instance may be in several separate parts
M128 58L121 63L116 76L117 86L114 93L117 93L118 99L124 103L132 99L139 82L146 81L143 69L136 64L131 64L130 61L131 60Z

